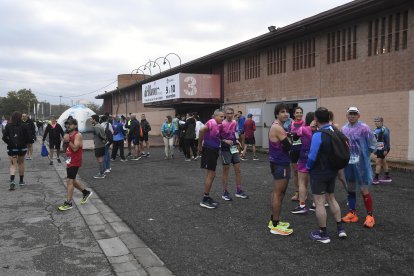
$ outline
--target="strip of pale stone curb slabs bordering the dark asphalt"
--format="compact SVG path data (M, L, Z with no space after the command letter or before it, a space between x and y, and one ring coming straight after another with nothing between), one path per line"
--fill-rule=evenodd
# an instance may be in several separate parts
M54 168L63 185L66 187L66 170L62 165L54 163ZM88 182L80 176L78 179L88 186ZM102 249L108 262L118 276L174 275L161 259L122 221L118 215L94 194L85 205L78 202L81 197L74 193L74 203Z

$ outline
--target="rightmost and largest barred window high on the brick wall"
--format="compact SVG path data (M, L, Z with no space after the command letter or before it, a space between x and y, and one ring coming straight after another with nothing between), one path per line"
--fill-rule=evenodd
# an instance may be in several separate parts
M393 44L394 43L394 44ZM407 49L408 11L368 22L368 56Z

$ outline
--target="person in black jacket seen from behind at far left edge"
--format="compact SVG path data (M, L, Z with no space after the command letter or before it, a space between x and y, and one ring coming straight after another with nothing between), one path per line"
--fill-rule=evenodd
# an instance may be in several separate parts
M20 181L24 182L24 156L27 152L27 144L30 140L30 131L27 125L22 123L22 114L18 111L13 112L11 120L7 123L3 131L3 141L7 144L7 155L10 160L10 191L14 191L16 184L14 178L18 167Z

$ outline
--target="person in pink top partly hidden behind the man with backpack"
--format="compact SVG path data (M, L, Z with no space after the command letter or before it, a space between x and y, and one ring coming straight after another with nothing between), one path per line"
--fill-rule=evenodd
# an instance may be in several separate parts
M311 124L314 122L315 113L308 112L305 117L305 126L302 126L297 130L297 135L302 141L300 147L299 159L297 164L298 169L298 184L299 184L299 205L292 210L293 214L306 214L308 209L306 208L306 198L308 193L308 170L306 163L308 161L308 154L312 141L312 127Z

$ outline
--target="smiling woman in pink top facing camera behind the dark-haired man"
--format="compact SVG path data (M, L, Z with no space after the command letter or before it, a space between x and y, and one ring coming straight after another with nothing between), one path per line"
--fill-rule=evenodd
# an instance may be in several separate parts
M290 150L290 160L292 162L292 171L293 171L293 183L295 184L295 194L292 196L292 201L299 201L299 184L298 184L298 160L300 154L300 148L302 146L302 141L297 135L297 132L300 131L301 127L305 125L303 118L303 108L300 106L295 107L293 110L294 120L290 125L289 137L292 141L292 149Z

